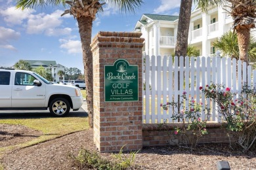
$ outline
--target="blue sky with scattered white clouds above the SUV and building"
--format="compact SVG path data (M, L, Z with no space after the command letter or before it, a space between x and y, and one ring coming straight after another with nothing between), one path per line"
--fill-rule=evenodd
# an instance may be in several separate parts
M133 31L142 14L179 16L180 3L144 0L135 13L126 14L106 3L93 22L92 38L99 31ZM0 67L11 67L19 59L51 60L83 73L77 21L70 14L60 16L64 10L62 5L20 10L15 1L0 0Z

